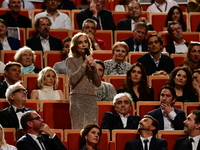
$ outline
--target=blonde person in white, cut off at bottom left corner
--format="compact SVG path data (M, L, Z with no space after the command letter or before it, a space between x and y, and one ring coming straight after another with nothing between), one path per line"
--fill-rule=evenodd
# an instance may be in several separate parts
M6 140L4 138L4 129L1 124L0 124L0 149L1 150L17 150L15 146L9 145L6 143Z

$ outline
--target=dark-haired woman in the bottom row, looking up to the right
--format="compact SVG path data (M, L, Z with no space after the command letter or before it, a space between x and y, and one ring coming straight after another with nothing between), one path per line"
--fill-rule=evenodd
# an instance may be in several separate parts
M81 130L80 150L99 150L97 145L100 142L102 130L96 124L88 124Z

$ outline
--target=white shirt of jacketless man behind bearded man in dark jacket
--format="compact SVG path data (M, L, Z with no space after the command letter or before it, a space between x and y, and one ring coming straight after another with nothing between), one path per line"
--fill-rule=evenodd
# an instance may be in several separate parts
M38 13L35 15L34 21L36 21L39 17L46 16L51 20L51 23L52 23L51 29L69 29L69 30L71 30L72 24L71 24L71 20L68 17L68 15L61 13L59 11L57 11L57 12L58 12L58 14L55 19L53 19L53 17L50 14L48 14L47 11Z

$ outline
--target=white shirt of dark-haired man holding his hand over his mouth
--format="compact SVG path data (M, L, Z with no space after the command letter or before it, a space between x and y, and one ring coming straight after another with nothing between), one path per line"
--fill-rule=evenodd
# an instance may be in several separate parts
M171 122L176 117L176 113L174 111L174 108L172 107L172 111L168 115L165 114L162 109L161 109L161 111L162 111L162 114L163 114L164 130L174 130L174 126Z

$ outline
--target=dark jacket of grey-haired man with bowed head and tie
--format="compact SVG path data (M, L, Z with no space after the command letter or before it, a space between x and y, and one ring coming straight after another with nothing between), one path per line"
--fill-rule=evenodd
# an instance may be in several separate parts
M126 44L128 45L128 47L129 47L129 52L134 52L134 44L135 44L135 41L134 41L134 37L130 37L130 38L127 38L127 39L123 39L123 40L121 40L121 41L124 41L124 42L126 42ZM142 41L142 52L148 52L148 50L147 50L147 43L146 43L146 39L144 39L143 41Z

